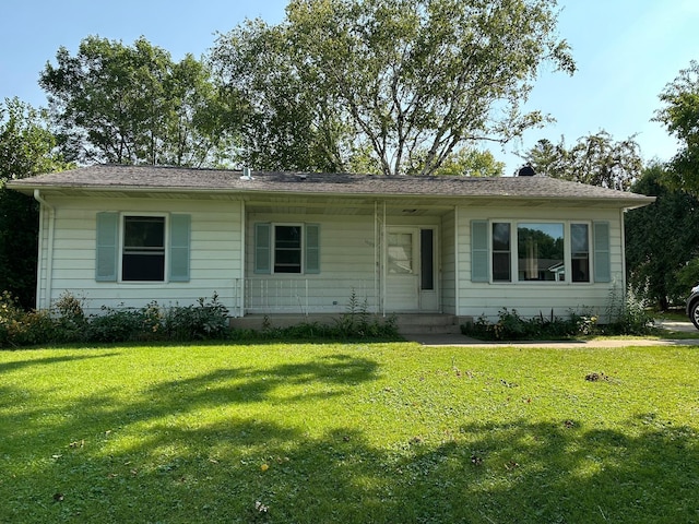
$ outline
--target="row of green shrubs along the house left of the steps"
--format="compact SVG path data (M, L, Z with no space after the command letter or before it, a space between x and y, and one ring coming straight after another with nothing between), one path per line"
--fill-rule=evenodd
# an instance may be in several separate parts
M66 291L51 311L25 311L8 291L0 297L0 348L68 342L191 342L211 340L395 340L394 317L368 312L353 291L347 312L332 324L301 322L274 327L265 319L260 332L232 330L227 308L216 294L196 305L162 307L152 301L143 308L103 307L86 317L83 299Z

